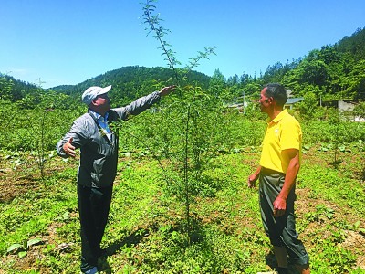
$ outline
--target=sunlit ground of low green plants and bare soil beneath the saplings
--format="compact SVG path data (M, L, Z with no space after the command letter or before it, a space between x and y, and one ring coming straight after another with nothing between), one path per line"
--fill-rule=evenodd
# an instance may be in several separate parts
M259 148L219 153L209 187L191 205L190 245L182 202L148 153L120 152L102 273L256 273L276 267L246 187ZM78 273L77 160L49 152L44 180L26 153L0 155L0 273ZM359 143L306 146L297 178L297 230L312 273L365 273L364 155ZM17 245L15 245L17 244ZM296 273L290 269L291 273Z

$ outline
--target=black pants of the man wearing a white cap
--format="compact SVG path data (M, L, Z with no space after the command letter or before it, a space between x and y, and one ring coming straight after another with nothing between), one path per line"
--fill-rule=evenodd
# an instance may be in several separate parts
M78 184L78 211L81 224L81 271L97 266L101 239L107 225L113 186L104 188Z

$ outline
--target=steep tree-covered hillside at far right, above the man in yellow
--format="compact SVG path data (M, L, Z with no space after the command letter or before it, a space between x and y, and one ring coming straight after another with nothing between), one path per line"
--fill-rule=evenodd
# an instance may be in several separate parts
M304 58L269 66L261 79L282 82L301 96L310 91L324 98L365 99L365 27Z

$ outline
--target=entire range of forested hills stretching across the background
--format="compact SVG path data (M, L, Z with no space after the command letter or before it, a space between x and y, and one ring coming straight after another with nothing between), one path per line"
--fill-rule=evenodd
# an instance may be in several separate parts
M243 68L244 69L244 68ZM183 69L178 70L183 75ZM304 57L277 62L258 76L243 74L224 78L216 69L212 77L190 71L179 84L196 84L214 95L224 97L256 97L268 82L281 82L296 96L308 93L322 99L365 99L365 27L351 36L343 37L335 45L313 49ZM49 90L78 97L90 86L112 85L110 96L115 103L123 104L158 90L161 85L176 84L174 73L168 68L124 67L108 71L75 86L58 86ZM35 85L0 74L0 99L23 100L33 94ZM39 89L38 89L39 90ZM49 91L47 90L47 91ZM32 95L33 96L33 95Z

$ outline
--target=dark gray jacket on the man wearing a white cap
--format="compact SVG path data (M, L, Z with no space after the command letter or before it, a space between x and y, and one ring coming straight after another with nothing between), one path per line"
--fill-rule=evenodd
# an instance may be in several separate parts
M108 121L126 120L129 115L137 115L160 100L158 91L141 97L123 108L111 109ZM57 154L67 158L63 145L73 137L72 145L79 148L78 184L89 187L106 187L113 184L118 164L118 134L110 130L110 140L99 129L99 124L91 112L78 117L69 132L57 143Z

